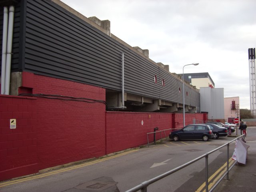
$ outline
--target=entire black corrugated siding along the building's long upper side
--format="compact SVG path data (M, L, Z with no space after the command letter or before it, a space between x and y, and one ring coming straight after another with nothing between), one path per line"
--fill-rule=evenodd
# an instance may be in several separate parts
M15 68L120 91L124 52L125 92L183 103L181 80L84 20L50 0L27 0L26 8L24 63ZM200 111L199 92L186 91L185 104Z

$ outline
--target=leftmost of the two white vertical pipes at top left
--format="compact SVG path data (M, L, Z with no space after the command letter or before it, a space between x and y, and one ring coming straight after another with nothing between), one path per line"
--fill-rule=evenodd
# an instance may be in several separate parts
M4 87L5 87L7 31L8 31L8 7L4 7L3 42L2 42L2 69L1 69L1 94L4 94Z

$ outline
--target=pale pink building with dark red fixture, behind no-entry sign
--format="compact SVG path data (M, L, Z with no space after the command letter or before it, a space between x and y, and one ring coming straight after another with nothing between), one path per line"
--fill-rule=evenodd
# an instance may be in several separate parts
M240 119L239 97L224 98L224 118L229 123L234 123L234 118Z

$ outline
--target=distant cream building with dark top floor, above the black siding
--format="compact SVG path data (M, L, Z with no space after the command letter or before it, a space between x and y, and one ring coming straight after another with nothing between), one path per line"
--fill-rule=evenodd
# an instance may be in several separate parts
M182 74L179 75L182 76ZM200 87L215 87L209 73L186 73L184 74L184 80L190 82L191 85L196 86L197 89L200 89Z

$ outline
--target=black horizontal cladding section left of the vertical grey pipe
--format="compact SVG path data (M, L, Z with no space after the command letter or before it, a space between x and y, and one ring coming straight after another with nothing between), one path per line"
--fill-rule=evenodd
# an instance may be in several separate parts
M120 53L108 36L56 4L28 1L25 70L120 90Z

